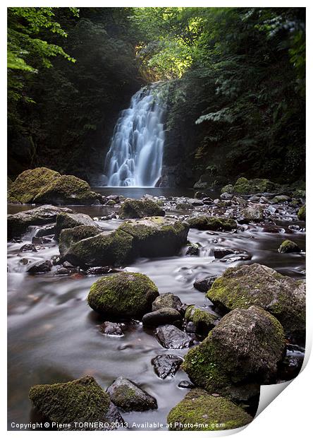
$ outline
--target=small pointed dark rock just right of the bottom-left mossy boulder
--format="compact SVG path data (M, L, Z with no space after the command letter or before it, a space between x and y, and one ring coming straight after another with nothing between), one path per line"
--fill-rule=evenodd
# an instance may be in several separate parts
M124 412L142 412L149 409L157 409L156 399L146 391L140 389L133 381L118 377L113 384L106 389L111 401Z

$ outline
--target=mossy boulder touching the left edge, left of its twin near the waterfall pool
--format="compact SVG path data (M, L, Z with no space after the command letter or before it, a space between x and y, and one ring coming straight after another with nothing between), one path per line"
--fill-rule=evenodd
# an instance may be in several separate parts
M61 174L47 167L25 170L18 175L8 190L9 198L21 203L32 203L42 187L59 179Z

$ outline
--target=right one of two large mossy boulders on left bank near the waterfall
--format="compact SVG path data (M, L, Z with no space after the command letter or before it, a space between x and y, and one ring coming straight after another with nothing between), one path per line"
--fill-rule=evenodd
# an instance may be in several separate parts
M91 205L94 201L102 201L102 197L91 191L87 182L73 175L60 175L53 179L42 186L33 199L35 203L54 205Z

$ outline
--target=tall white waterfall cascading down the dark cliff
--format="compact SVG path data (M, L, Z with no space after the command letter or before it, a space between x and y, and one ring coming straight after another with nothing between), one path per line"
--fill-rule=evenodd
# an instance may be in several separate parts
M161 177L164 105L157 84L133 95L116 123L106 154L106 184L114 187L154 187Z

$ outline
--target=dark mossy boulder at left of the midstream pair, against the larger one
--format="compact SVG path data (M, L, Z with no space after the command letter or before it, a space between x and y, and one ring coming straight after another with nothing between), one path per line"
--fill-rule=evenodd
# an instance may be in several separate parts
M64 259L75 266L121 266L133 258L133 236L122 230L100 232L73 243Z

